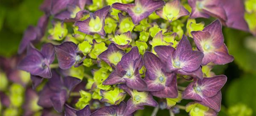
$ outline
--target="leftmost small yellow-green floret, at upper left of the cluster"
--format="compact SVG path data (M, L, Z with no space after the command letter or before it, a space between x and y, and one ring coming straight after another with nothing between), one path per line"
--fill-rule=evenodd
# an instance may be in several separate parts
M65 23L55 22L55 25L48 30L49 39L61 41L68 34L68 29Z

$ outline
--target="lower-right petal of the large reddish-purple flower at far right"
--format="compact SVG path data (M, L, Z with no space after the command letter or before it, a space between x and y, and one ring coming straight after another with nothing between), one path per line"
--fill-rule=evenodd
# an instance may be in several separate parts
M225 44L215 50L215 55L216 59L213 62L214 64L228 64L234 60L234 57L228 54L228 48Z

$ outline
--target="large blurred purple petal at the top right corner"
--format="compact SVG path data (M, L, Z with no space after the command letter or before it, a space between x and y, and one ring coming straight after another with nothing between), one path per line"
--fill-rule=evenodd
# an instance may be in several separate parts
M249 27L244 19L245 9L243 2L243 0L220 0L220 6L223 6L227 14L227 20L221 20L223 25L249 31Z

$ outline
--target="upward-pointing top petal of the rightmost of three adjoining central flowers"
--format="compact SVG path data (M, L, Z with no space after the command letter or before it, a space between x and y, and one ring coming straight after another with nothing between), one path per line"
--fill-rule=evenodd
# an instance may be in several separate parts
M179 58L181 52L185 50L192 50L192 46L190 45L187 36L183 35L182 39L180 40L179 44L177 45L176 51L174 52L173 58Z

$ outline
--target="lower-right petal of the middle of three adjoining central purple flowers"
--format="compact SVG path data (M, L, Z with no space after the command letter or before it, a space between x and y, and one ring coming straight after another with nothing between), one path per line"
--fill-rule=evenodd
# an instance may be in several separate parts
M153 96L159 98L176 98L178 97L177 77L173 77L171 84L167 85L164 90L150 92Z

